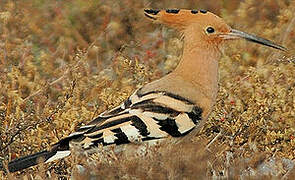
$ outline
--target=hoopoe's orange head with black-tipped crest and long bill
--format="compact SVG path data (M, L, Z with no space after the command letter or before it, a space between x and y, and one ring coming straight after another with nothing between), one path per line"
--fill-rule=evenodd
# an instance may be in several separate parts
M286 48L270 40L232 29L220 17L205 10L146 9L144 14L155 22L177 29L187 42L197 43L198 46L220 49L228 40L245 39L286 51Z

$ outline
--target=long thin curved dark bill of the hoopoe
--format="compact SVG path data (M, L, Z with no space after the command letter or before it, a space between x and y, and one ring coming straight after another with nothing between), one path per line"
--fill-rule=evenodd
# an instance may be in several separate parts
M225 39L243 38L243 39L246 39L247 41L262 44L264 46L269 46L269 47L272 47L272 48L275 48L275 49L278 49L281 51L287 51L287 48L285 48L281 45L278 45L270 40L255 36L253 34L248 34L248 33L236 30L236 29L232 29L228 34L223 35L223 37Z

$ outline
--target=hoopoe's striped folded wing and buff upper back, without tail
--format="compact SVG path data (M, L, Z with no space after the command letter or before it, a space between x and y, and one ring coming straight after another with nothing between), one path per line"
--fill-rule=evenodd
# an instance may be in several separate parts
M120 145L186 135L201 121L203 109L195 102L196 92L189 92L194 88L168 81L162 78L143 86L120 106L100 114L66 140L89 149L100 144ZM194 98L183 94L193 94Z

